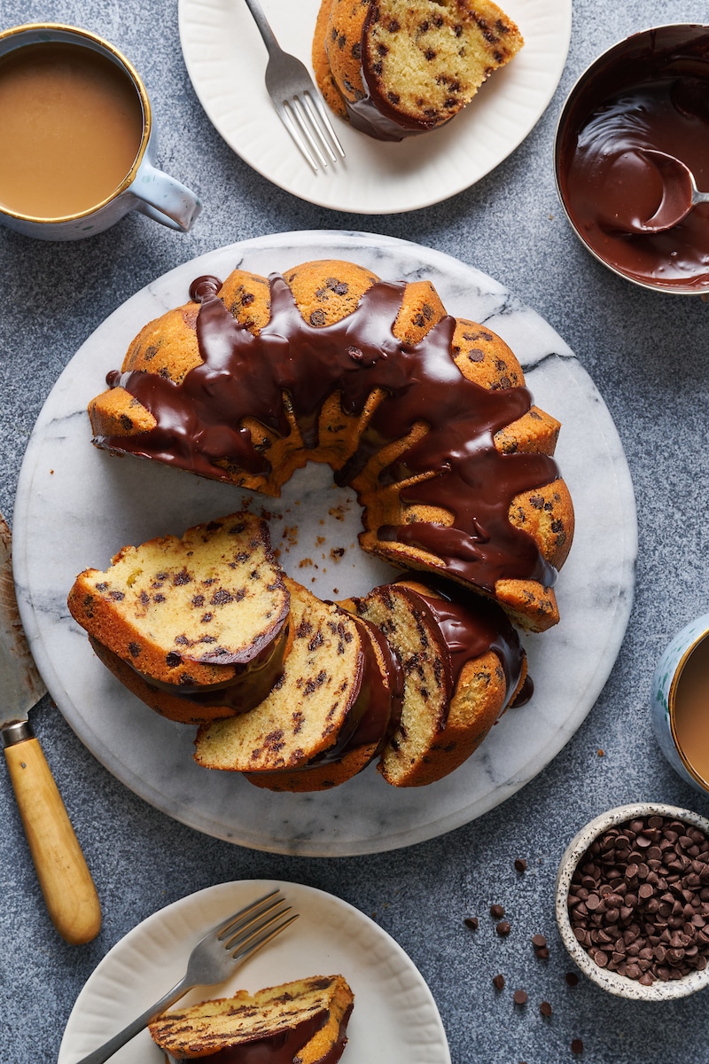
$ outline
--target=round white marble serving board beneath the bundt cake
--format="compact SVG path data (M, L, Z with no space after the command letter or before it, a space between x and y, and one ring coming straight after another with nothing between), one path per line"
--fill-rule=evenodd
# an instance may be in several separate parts
M124 544L243 506L269 520L286 570L317 594L365 594L394 572L359 550L359 508L328 468L310 464L278 500L90 445L87 402L120 367L135 333L186 301L190 281L237 266L268 275L309 259L348 259L384 280L428 278L450 313L485 322L522 363L538 405L562 422L557 459L576 511L576 537L557 595L561 622L526 635L535 695L510 710L446 779L396 789L374 766L323 794L281 795L191 758L193 729L151 713L95 658L66 597L84 568L105 568ZM51 535L47 530L51 529ZM504 801L574 734L623 639L637 552L635 499L608 410L573 352L501 284L445 254L349 232L275 234L178 267L137 293L88 337L37 419L14 522L20 612L39 670L86 747L146 801L200 831L254 849L343 855L442 834Z

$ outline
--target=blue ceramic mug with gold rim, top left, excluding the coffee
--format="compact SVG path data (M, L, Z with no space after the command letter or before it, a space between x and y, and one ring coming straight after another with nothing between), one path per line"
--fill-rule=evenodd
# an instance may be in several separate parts
M129 171L101 202L81 213L45 218L11 210L0 201L0 223L44 240L77 240L108 229L129 211L137 210L163 226L188 232L200 213L200 201L189 188L155 166L156 137L150 101L131 63L96 34L56 23L31 23L0 32L0 62L18 49L46 44L89 49L124 74L135 90L142 114L139 147Z

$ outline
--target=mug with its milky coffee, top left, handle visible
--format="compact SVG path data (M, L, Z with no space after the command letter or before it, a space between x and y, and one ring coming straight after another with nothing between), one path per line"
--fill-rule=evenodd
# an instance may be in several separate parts
M137 71L87 30L0 32L0 223L26 236L77 240L133 210L186 233L200 213L195 193L154 165L155 126Z

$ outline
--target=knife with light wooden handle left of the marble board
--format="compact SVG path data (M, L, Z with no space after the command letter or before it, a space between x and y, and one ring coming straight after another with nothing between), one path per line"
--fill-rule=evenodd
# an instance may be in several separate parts
M0 738L30 853L52 922L72 945L91 942L101 907L28 712L47 693L22 630L12 570L11 533L0 514Z

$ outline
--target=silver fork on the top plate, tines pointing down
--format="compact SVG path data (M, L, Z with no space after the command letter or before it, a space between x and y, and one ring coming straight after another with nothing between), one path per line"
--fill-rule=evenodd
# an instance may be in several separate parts
M258 0L246 2L268 49L266 88L281 121L314 170L318 170L314 155L322 166L327 166L325 155L331 163L337 162L336 152L344 159L344 149L306 67L281 48Z

